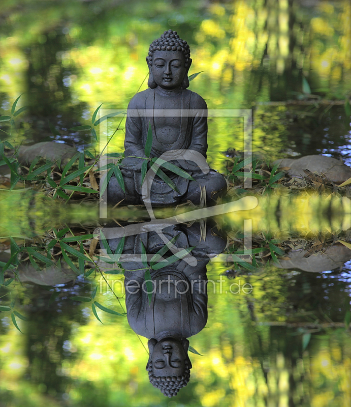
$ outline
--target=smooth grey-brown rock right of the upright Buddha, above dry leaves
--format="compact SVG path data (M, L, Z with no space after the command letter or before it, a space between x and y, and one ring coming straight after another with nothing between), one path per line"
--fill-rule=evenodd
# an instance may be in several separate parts
M298 159L285 158L283 160L276 160L274 164L278 162L279 168L290 167L288 173L291 177L306 177L304 169L309 169L311 172L317 172L319 175L324 174L330 181L337 184L341 184L351 178L351 168L332 157L311 155Z

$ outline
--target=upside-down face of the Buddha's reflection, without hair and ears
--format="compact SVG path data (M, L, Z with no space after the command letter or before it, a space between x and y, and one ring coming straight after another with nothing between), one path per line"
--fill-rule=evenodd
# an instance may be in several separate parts
M154 376L181 376L185 371L186 354L181 342L163 339L155 344L152 360Z

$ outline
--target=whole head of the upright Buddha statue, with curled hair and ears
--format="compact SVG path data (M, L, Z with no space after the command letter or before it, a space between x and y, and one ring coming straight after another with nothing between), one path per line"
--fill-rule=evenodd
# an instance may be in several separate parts
M189 86L190 48L176 31L165 31L161 38L152 42L146 62L150 71L149 88L159 86L172 90Z

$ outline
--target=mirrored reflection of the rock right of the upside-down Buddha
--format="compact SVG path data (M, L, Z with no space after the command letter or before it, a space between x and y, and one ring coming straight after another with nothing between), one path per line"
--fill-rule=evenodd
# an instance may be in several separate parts
M288 253L290 260L279 260L280 269L299 269L312 273L335 270L351 259L351 250L341 243L336 243L322 253L318 252L304 257L307 250L292 250Z

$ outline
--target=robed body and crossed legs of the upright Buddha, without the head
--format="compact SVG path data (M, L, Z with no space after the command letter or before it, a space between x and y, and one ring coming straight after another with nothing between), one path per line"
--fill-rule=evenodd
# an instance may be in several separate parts
M175 109L181 115L159 116L153 110ZM188 110L196 111L189 115ZM165 91L161 88L147 89L137 93L130 101L125 123L125 156L122 161L122 173L126 192L123 194L113 176L107 188L107 201L114 205L121 199L123 204L142 203L141 165L145 157L145 144L149 123L152 129L152 148L150 157L159 157L171 150L193 150L206 158L207 152L207 105L197 93L180 89ZM134 157L128 157L134 156ZM214 200L221 191L226 190L224 177L214 170L207 175L194 163L185 160L172 161L183 168L196 181L189 181L163 168L167 176L176 185L174 191L164 181L155 177L151 186L151 202L154 206L170 205L186 199L200 202L200 185L206 187L207 201Z

